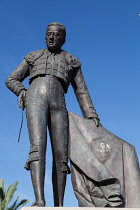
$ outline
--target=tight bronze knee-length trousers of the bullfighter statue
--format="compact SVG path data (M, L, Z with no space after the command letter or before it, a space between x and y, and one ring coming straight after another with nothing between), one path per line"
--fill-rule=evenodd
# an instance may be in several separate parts
M32 161L46 159L47 129L49 128L53 169L67 172L68 162L68 113L64 90L57 78L40 76L33 80L26 95L26 118L30 139L29 158L25 168L30 170Z

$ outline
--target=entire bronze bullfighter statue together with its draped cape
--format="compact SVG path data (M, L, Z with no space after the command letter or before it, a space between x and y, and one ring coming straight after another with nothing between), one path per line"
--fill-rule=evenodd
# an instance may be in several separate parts
M63 206L68 167L79 206L140 207L140 170L134 147L101 124L86 87L81 64L62 50L66 29L53 22L43 50L30 52L7 78L7 87L26 108L30 170L35 194L32 206L45 206L46 126L49 128L54 206ZM28 90L22 81L30 76ZM72 85L84 118L68 114L64 93ZM76 155L75 155L76 154Z

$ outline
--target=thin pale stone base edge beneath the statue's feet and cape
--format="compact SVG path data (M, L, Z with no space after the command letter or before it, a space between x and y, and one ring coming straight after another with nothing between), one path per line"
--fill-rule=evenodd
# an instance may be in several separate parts
M121 208L100 207L22 207L20 210L121 210ZM140 210L140 208L123 208L124 210Z

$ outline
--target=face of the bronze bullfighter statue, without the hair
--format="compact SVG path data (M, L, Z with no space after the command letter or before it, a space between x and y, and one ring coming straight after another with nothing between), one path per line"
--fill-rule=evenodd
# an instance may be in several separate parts
M50 50L59 50L64 44L64 39L59 26L49 26L46 32L46 44Z

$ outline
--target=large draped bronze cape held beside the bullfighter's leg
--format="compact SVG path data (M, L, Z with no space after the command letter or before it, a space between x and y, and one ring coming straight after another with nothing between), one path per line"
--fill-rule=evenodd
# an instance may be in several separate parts
M81 207L140 207L140 170L135 148L69 112L72 184Z

